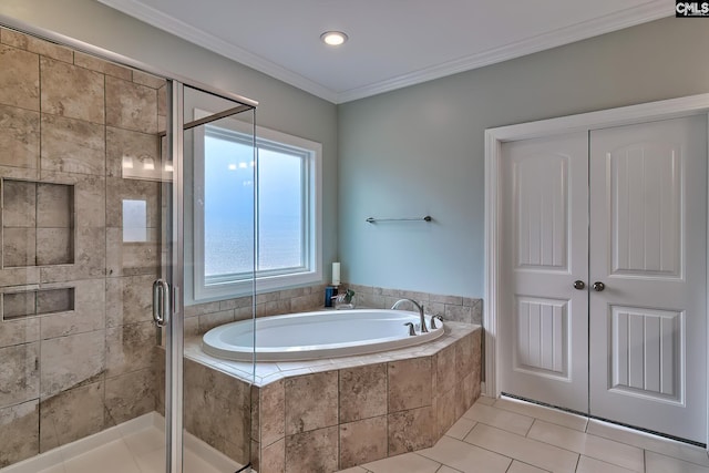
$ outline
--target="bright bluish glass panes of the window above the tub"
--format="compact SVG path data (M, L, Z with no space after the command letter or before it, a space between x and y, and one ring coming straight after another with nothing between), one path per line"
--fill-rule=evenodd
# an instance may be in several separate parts
M205 136L205 277L253 269L254 156L251 146ZM304 266L304 158L259 150L258 270Z

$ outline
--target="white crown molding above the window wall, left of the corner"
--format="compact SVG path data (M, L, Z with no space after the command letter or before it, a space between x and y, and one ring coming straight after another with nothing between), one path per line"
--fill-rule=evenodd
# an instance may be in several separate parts
M182 38L183 40L197 44L206 50L220 54L256 71L263 72L264 74L286 82L287 84L319 96L320 99L327 100L328 102L337 103L338 94L329 88L304 78L302 75L286 68L281 68L280 65L257 54L230 44L151 7L146 7L136 0L99 0L99 2L141 20L152 27L166 31L177 38Z

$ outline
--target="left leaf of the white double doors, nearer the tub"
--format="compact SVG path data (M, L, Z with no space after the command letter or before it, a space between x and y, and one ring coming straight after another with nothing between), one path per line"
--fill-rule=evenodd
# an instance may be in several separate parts
M501 337L505 391L586 411L587 134L503 144Z

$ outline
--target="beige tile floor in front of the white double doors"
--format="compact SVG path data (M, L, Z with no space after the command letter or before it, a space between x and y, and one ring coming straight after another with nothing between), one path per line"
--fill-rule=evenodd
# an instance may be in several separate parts
M481 398L431 449L340 473L709 473L703 449L584 417Z

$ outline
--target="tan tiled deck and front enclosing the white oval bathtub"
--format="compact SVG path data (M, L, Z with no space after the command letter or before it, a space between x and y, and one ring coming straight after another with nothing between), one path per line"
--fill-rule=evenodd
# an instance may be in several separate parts
M479 326L448 322L442 338L419 347L258 362L249 419L242 379L251 379L250 363L209 357L193 337L185 342L185 428L243 463L234 446L250 424L260 473L333 472L432 446L480 397L481 335Z

